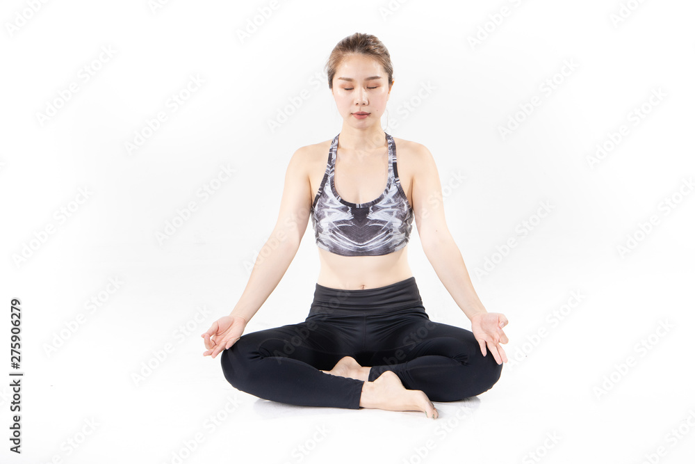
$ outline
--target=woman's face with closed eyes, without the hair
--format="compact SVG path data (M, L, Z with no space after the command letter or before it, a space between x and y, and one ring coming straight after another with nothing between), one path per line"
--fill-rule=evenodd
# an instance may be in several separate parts
M374 79L377 77L377 79ZM343 120L353 127L379 125L389 101L389 75L382 65L370 56L348 56L338 66L333 77L333 97ZM357 118L355 113L369 113Z

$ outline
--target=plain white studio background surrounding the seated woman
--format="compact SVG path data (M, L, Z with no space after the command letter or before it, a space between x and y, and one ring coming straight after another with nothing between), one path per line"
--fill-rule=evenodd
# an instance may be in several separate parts
M682 463L693 455L692 2L153 5L3 3L1 462ZM358 31L377 35L395 67L385 130L434 154L475 289L509 318L500 381L471 401L436 403L438 421L261 400L227 383L220 358L202 356L199 335L234 307L275 225L291 154L341 129L323 66ZM204 83L172 111L167 101L191 76ZM71 83L77 91L61 97ZM662 95L656 105L653 91ZM532 113L517 114L534 96ZM42 118L51 105L60 108ZM643 105L648 113L635 119ZM126 143L159 111L167 119L129 153ZM279 113L291 114L271 128ZM500 127L515 117L503 138ZM621 125L627 135L592 168L596 145L616 139ZM234 175L215 184L222 166ZM212 184L213 195L198 194ZM197 209L159 240L190 202ZM538 218L543 203L550 213ZM415 230L409 261L430 318L470 328ZM502 255L510 238L516 246ZM309 225L247 332L306 317L317 253ZM478 272L486 259L493 265ZM110 280L121 282L111 293ZM22 301L21 455L8 451L12 298ZM563 309L559 321L553 313ZM172 350L158 362L165 346ZM147 363L156 367L145 375Z

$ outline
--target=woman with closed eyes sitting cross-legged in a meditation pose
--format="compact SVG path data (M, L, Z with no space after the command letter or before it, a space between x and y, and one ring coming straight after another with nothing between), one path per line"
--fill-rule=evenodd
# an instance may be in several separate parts
M432 401L473 397L498 381L507 318L487 312L475 294L445 223L432 154L381 127L393 86L389 51L375 36L355 33L336 45L327 74L341 132L293 154L277 225L263 247L269 253L259 253L265 257L256 259L231 314L202 334L203 355L222 353L227 381L263 399L419 410L435 419ZM321 263L309 315L242 335L297 253L309 217ZM407 262L413 219L472 332L425 312Z

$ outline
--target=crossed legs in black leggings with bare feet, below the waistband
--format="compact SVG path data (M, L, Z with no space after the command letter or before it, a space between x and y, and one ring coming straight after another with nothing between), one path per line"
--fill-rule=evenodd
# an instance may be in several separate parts
M224 376L271 401L422 410L427 417L437 415L432 401L475 396L500 378L502 366L482 356L469 330L422 314L389 317L365 324L307 319L247 333L222 352ZM367 346L359 346L362 339Z

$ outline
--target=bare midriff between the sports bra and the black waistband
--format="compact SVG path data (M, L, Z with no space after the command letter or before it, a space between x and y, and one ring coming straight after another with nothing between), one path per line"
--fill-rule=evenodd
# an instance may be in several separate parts
M341 256L318 248L318 285L341 290L386 287L412 277L408 246L381 256Z

